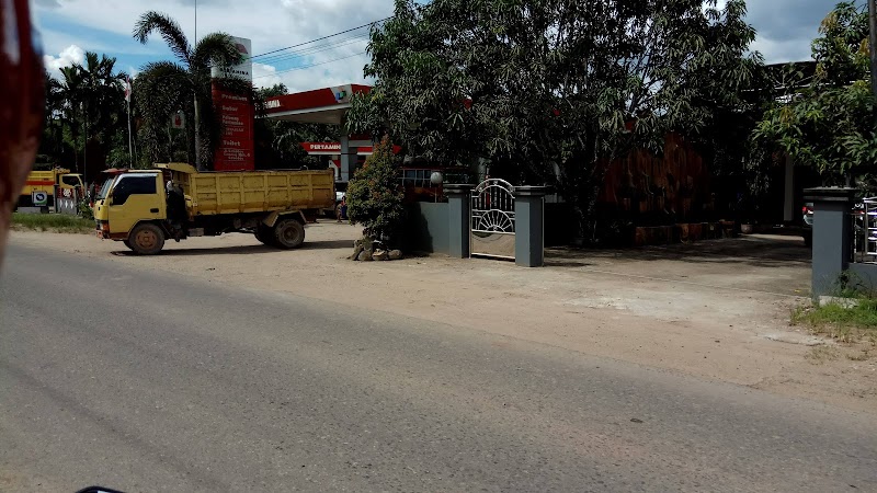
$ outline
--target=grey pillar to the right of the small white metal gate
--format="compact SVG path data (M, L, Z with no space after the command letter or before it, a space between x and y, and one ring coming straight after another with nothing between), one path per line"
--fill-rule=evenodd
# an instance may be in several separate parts
M514 187L514 262L522 267L545 264L544 186Z

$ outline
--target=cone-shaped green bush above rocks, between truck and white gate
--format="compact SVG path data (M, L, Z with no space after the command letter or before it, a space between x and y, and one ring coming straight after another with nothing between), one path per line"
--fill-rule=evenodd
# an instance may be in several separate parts
M348 185L348 217L364 226L366 237L394 244L405 220L403 199L399 162L385 137Z

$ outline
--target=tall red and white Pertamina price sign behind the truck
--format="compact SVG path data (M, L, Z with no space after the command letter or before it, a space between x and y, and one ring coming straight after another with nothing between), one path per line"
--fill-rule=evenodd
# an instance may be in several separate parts
M240 65L234 67L214 67L214 78L239 78L248 82L253 80L252 42L242 37L234 37L234 43L243 57ZM220 90L215 83L213 100L219 110L223 134L214 154L216 171L253 170L253 102L246 94L235 94Z

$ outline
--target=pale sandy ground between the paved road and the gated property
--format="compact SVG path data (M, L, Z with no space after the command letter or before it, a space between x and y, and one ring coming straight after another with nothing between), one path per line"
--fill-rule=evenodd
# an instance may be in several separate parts
M544 268L410 257L351 262L360 229L321 222L277 251L228 234L170 242L160 256L84 234L12 233L144 270L444 322L877 414L877 357L789 326L809 293L799 238L749 237L634 251L551 250ZM856 358L856 359L854 359Z

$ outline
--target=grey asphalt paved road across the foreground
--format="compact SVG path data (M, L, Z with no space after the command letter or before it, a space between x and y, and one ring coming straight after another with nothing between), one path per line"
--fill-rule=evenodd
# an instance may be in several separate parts
M4 491L877 491L873 415L748 388L21 246L0 300Z

